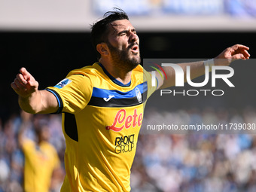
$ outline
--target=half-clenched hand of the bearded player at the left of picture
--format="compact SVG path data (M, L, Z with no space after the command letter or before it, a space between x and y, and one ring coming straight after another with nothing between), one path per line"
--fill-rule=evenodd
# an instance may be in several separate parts
M26 98L38 90L38 81L35 81L35 78L25 68L21 68L20 73L11 83L11 87L19 96Z

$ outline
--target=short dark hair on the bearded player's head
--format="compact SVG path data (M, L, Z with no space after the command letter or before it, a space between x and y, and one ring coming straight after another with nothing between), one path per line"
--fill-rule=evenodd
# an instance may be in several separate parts
M108 26L115 20L129 20L128 15L120 8L114 8L114 11L108 11L104 14L103 19L93 23L91 29L91 38L93 48L96 50L97 44L108 42ZM100 58L100 53L96 50L97 59Z

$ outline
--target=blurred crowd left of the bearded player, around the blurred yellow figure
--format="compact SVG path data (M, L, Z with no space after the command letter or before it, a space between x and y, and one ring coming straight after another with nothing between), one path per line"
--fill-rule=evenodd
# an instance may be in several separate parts
M56 148L61 168L54 172L50 192L58 192L65 175L65 140L62 135L61 116L56 114L28 114L21 111L5 122L0 118L0 192L22 192L24 179L24 154L19 141L20 130L27 139L36 139L35 128L47 125L49 142Z

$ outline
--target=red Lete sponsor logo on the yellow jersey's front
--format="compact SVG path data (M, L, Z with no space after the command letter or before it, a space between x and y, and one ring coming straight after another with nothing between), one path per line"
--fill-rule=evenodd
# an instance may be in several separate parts
M111 126L106 126L106 130L113 130L119 132L123 128L129 129L130 127L136 127L142 125L143 114L137 114L137 109L134 109L133 115L126 116L126 110L120 109L114 117L114 122Z

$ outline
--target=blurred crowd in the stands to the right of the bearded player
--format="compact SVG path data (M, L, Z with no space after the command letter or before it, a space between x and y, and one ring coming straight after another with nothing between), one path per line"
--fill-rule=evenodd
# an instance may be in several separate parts
M148 124L256 123L256 111L245 108L145 114L132 169L135 191L256 191L256 130L250 134L172 134L147 130ZM147 111L146 110L146 111ZM157 134L158 132L158 134ZM169 134L168 134L169 133Z

